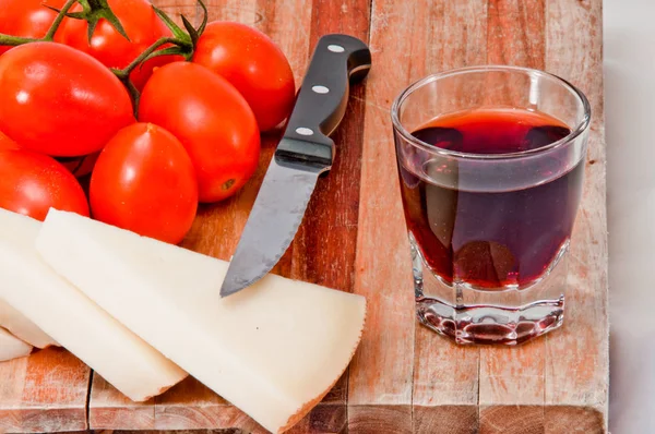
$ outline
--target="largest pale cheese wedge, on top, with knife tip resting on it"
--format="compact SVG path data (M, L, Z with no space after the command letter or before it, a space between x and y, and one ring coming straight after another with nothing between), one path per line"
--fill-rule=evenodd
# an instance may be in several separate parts
M269 275L221 299L228 264L51 210L37 250L98 305L266 430L298 422L346 369L366 300Z

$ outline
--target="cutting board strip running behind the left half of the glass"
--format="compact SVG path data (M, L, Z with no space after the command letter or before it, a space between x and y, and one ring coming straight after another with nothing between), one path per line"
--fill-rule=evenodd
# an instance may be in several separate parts
M412 40L409 82L453 68L486 63L487 0L468 1L466 7L456 2L421 3L414 20L422 20L421 27L433 31L419 33ZM413 403L420 410L415 407L415 432L477 432L478 366L476 348L457 347L416 325Z

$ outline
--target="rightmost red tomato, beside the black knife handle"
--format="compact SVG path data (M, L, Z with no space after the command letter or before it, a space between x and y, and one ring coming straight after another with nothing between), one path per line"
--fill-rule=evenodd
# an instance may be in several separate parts
M193 62L224 76L243 95L261 131L276 126L294 108L291 67L284 52L255 28L210 23L198 40Z

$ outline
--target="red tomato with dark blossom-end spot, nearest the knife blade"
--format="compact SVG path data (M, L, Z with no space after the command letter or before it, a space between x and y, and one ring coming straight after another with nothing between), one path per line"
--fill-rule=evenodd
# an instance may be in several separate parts
M234 86L203 67L175 62L156 70L141 95L139 118L182 142L201 202L231 196L257 169L260 136L252 110Z

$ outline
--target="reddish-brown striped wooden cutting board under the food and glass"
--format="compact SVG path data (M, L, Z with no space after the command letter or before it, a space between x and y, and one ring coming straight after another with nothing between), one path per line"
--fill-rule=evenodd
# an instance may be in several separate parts
M194 0L158 0L198 17ZM319 37L370 43L373 69L353 89L322 179L275 273L369 300L361 346L336 387L293 433L603 433L608 322L600 0L207 0L211 20L264 31L297 83ZM519 348L456 347L419 326L391 133L390 106L410 82L450 68L507 63L571 81L593 109L582 209L562 329ZM203 206L184 246L227 260L279 134L233 200ZM64 350L0 363L0 432L263 430L193 378L130 402Z

